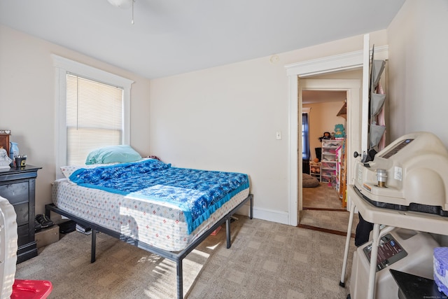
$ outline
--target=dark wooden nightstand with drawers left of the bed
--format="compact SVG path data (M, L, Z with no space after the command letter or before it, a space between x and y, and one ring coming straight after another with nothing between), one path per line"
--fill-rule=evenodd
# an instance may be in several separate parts
M34 240L34 207L37 171L41 168L27 165L0 169L0 196L5 197L13 205L17 214L17 263L37 256Z

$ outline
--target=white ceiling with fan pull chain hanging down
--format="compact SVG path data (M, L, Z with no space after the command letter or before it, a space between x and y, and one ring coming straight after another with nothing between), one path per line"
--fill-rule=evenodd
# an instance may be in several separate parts
M146 78L386 29L405 0L0 0L0 23Z

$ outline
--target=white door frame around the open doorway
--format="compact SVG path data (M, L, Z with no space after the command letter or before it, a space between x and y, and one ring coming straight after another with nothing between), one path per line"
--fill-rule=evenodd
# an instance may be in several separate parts
M387 46L375 48L375 57L377 53L385 51L387 57ZM298 132L302 131L302 123L298 122L299 107L302 107L302 97L299 97L298 78L307 78L319 74L330 74L338 71L348 71L363 67L364 51L359 50L351 53L344 53L342 55L334 55L330 57L323 57L317 60L309 60L307 62L299 62L295 64L286 65L286 74L288 76L289 85L289 144L288 144L288 224L296 226L298 223L298 208L302 208L302 163L298 162L297 153L301 153L302 144L298 142ZM384 55L378 55L381 57ZM383 58L381 58L383 59ZM352 82L353 83L353 82ZM344 90L352 90L353 85L349 84ZM356 90L356 88L354 88ZM360 88L358 89L360 90ZM353 165L354 158L351 153L353 151L361 151L361 100L354 100L356 93L352 91L351 103L347 104L347 127L353 132L347 132L347 172L351 175L350 165ZM352 176L347 176L348 181Z

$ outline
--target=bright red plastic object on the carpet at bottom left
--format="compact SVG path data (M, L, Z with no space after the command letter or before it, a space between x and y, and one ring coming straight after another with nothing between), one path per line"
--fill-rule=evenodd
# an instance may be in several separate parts
M45 299L52 288L47 280L15 279L11 299Z

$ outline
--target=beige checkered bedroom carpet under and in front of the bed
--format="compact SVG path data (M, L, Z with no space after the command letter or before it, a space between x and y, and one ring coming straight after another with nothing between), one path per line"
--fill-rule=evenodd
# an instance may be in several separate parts
M183 262L187 298L346 298L339 286L345 237L239 216L210 236ZM20 263L18 279L52 282L49 298L175 298L176 267L104 234L97 235L97 261L90 263L90 236L71 232Z

